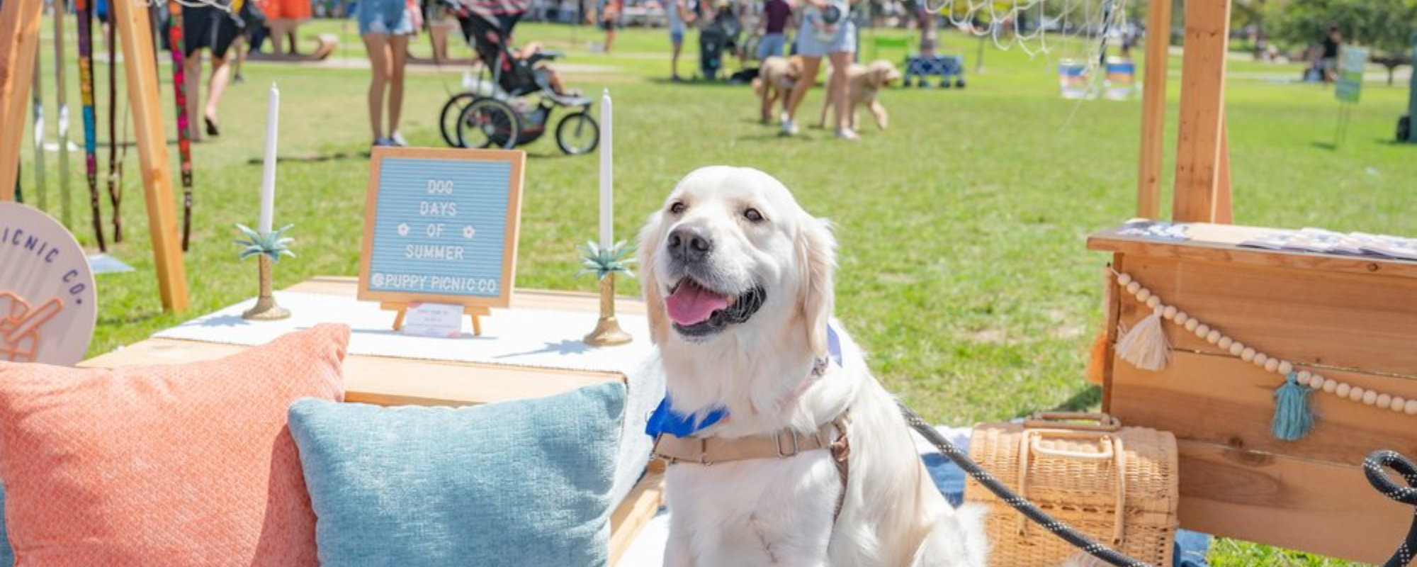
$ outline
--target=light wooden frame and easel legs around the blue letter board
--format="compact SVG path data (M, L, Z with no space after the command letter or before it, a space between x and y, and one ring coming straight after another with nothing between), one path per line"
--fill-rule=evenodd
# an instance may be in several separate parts
M507 218L503 231L502 247L502 281L496 298L479 298L466 295L445 295L434 292L385 292L370 289L370 269L374 264L374 230L378 214L380 177L385 159L414 159L414 160L459 160L459 162L506 162L512 172L507 174ZM516 282L517 264L517 235L521 228L521 187L526 172L526 152L521 150L472 150L472 149L434 149L434 147L374 147L370 155L368 190L364 194L364 238L359 261L359 291L360 301L377 301L383 309L398 310L394 319L394 329L402 327L404 313L408 303L449 303L462 305L463 313L472 316L475 335L482 335L479 316L490 315L490 308L506 308L512 305L512 288Z

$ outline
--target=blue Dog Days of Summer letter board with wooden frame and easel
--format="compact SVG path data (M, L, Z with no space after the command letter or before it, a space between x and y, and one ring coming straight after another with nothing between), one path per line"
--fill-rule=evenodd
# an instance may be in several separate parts
M359 298L400 310L512 301L523 152L378 147L370 160Z

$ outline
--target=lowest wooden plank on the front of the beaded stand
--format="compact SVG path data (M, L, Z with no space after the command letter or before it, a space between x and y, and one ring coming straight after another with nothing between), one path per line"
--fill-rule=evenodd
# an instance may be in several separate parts
M1413 510L1373 490L1357 466L1340 466L1178 441L1182 527L1382 563Z

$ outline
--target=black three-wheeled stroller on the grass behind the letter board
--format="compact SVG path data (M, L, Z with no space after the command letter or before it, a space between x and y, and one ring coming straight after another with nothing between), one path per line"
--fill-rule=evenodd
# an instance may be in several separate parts
M530 9L530 0L472 0L452 7L483 67L476 88L444 103L439 118L444 142L453 147L512 149L541 137L551 123L551 111L568 108L571 113L555 125L555 145L568 155L594 152L601 128L589 113L591 99L557 94L538 68L560 54L537 52L521 60L507 47L512 28Z

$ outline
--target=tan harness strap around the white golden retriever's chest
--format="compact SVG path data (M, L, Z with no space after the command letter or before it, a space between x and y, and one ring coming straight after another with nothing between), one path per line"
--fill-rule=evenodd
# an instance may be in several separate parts
M655 458L665 459L669 465L682 462L694 465L713 465L718 462L750 461L750 459L785 459L796 456L803 451L832 451L832 462L836 464L836 473L842 479L842 492L836 498L836 509L832 512L832 522L842 515L842 503L846 502L846 479L850 476L852 444L846 435L852 424L850 410L843 411L832 422L822 425L812 435L802 435L791 428L778 430L772 435L738 437L733 439L721 437L674 437L659 434L655 437ZM832 430L836 438L832 439ZM830 439L830 441L829 441Z

